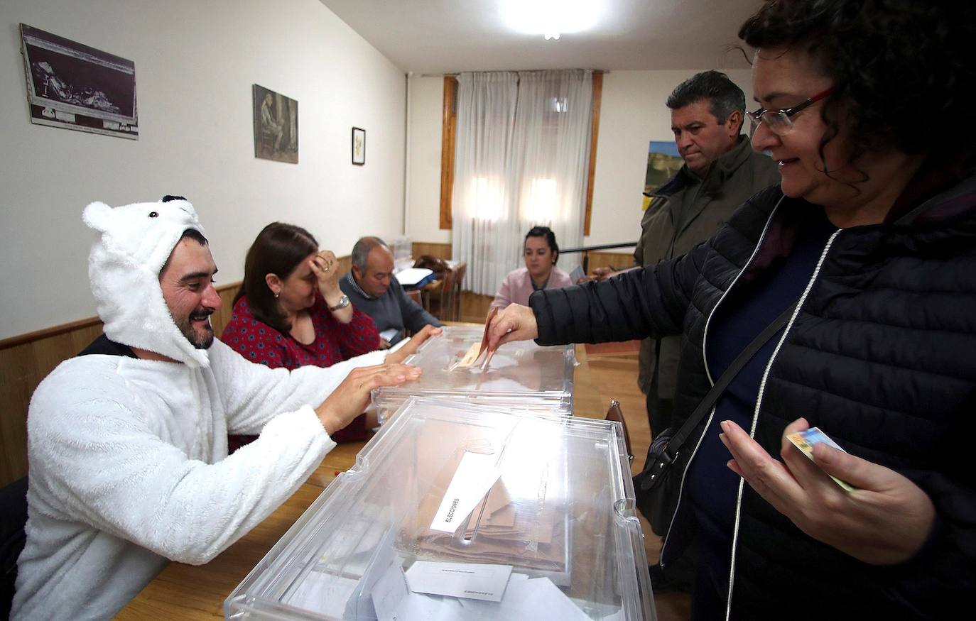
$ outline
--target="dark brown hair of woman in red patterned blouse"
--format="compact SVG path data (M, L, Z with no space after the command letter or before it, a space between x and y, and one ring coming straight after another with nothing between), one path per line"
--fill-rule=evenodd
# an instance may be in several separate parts
M234 295L234 303L247 295L251 314L274 330L287 333L292 327L278 312L274 293L267 287L264 276L274 274L287 279L295 268L312 252L318 252L318 242L301 226L271 222L258 233L258 238L244 259L244 281Z

